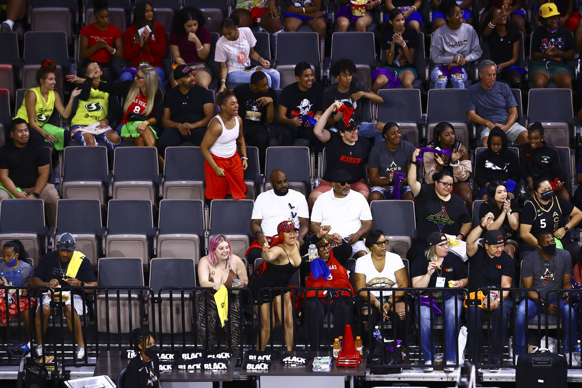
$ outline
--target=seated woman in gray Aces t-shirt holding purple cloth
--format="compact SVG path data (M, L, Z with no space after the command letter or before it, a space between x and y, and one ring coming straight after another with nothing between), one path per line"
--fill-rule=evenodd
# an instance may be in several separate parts
M414 144L402 140L400 127L395 122L384 124L382 137L386 141L372 147L370 158L368 158L368 172L372 186L368 202L383 199L414 200L407 177ZM403 175L403 178L400 179L398 198L393 194L395 193L394 186L398 181L395 173Z

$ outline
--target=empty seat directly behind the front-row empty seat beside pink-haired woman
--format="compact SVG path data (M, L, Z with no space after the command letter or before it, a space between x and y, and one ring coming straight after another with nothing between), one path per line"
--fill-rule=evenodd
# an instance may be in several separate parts
M204 252L204 202L163 199L159 203L158 257L192 258Z

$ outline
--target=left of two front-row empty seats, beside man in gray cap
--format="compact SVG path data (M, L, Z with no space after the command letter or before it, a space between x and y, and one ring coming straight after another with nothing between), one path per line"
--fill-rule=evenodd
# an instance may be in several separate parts
M130 290L144 286L141 258L99 259L98 284L100 287L118 287L97 294L97 330L108 333L131 333L143 322L143 291ZM125 290L123 290L125 288ZM119 302L118 302L119 301Z

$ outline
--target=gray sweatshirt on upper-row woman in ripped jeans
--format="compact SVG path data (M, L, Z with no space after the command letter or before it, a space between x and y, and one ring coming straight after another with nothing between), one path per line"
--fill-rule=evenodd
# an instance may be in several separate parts
M449 64L456 55L471 62L481 58L482 54L479 37L470 24L462 23L456 30L445 24L432 33L431 59L435 64Z

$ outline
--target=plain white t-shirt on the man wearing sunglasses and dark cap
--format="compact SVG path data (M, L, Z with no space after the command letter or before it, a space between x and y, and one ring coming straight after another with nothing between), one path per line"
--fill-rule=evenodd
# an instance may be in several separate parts
M372 220L370 205L357 191L350 192L343 198L333 195L333 189L320 195L313 204L311 221L330 225L330 233L337 233L343 238L354 234L361 228L361 221Z

